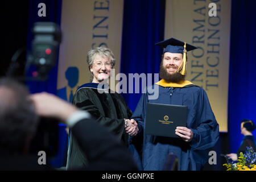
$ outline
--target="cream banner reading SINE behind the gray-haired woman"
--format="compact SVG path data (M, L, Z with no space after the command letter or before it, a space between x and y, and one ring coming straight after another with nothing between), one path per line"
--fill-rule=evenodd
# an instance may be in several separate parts
M119 73L123 22L123 0L63 0L57 89L71 101L77 86L90 80L86 54L105 45L112 49Z

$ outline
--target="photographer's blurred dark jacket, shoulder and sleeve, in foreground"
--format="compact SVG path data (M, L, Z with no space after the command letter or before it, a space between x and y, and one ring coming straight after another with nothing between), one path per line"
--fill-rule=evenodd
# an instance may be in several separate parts
M97 171L134 171L135 163L127 148L114 135L110 135L105 127L93 119L80 119L72 127L73 135L86 154L89 165L77 170ZM92 142L93 141L93 142ZM36 154L3 154L0 155L0 171L52 171L55 170L46 155L46 164L38 164Z

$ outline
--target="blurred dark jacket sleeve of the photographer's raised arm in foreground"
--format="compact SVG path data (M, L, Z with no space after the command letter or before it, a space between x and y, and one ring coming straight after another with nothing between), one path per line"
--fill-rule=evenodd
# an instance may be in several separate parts
M93 119L81 119L72 130L90 162L85 169L93 171L137 170L127 148Z

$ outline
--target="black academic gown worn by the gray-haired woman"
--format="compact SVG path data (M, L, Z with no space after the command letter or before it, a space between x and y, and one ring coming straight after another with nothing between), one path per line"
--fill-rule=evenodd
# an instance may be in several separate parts
M73 97L72 103L80 109L88 111L101 125L105 126L127 146L128 134L125 132L123 118L130 118L131 110L127 107L121 94L111 93L109 89L98 89L97 87L98 84L96 83L80 86ZM77 144L71 130L69 132L67 169L87 165L88 159Z

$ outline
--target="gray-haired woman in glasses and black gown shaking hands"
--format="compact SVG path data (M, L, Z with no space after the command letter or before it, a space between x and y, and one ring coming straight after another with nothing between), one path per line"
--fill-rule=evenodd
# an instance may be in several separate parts
M132 112L127 107L124 98L121 94L110 91L106 84L115 65L113 52L106 47L91 49L87 53L87 63L91 82L81 85L77 89L72 104L88 111L118 140L128 146L128 136L136 135L138 127L137 122L129 119ZM82 152L71 130L69 132L67 169L81 168L87 166L89 162L90 159L87 159Z

